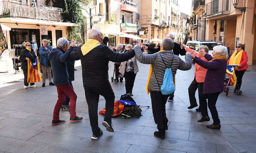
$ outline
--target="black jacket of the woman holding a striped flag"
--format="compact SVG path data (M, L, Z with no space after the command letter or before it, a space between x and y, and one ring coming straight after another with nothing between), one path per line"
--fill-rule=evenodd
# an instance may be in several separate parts
M31 54L32 55L31 55ZM28 57L32 63L35 62L35 52L33 50L31 50L31 52L29 52L29 50L24 49L21 51L19 59L21 60L21 69L22 70L28 70L28 61L26 60L26 57Z

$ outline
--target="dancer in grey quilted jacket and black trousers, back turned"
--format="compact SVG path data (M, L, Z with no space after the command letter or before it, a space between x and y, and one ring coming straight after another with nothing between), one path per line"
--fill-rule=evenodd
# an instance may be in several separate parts
M173 55L174 42L171 38L163 38L160 51L154 54L143 55L139 46L134 46L136 58L140 63L151 64L147 81L147 94L150 93L154 121L158 131L154 135L164 139L165 130L168 130L168 119L166 117L165 104L169 95L161 93L163 76L166 68L171 68L173 80L177 69L190 70L192 67L191 55L185 56L185 62L179 56Z

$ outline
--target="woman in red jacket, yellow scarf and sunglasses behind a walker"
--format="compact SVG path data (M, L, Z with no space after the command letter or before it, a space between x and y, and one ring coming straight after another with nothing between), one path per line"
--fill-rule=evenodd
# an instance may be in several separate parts
M242 78L244 75L244 72L248 68L248 57L246 51L244 51L244 45L243 44L237 44L236 50L233 51L231 57L227 61L227 64L229 65L238 65L238 69L235 70L236 78L237 78L237 84L234 89L234 93L237 92L237 90L241 88L242 84Z

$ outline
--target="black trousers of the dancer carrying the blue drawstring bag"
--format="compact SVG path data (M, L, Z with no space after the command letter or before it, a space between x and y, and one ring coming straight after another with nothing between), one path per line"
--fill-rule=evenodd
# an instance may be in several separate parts
M158 129L163 129L163 121L168 122L165 111L165 104L170 95L163 95L161 92L150 91L152 112Z

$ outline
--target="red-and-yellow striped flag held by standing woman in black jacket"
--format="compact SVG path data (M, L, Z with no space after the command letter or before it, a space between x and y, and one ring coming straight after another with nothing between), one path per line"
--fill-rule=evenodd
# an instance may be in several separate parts
M38 57L36 57L34 63L32 63L31 60L28 58L28 83L40 81L42 81L42 77Z

